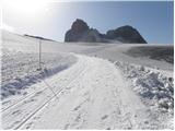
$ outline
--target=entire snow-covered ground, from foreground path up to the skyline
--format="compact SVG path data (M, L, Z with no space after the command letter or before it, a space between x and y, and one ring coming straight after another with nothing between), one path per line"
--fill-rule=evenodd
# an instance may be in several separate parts
M2 40L3 129L174 128L171 53L42 40L38 70L39 39L3 32Z

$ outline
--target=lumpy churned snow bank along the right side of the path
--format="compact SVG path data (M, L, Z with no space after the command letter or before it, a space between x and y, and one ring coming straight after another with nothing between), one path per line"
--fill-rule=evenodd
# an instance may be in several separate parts
M164 74L161 70L143 66L136 66L119 61L115 62L115 64L121 70L126 79L130 81L132 90L141 96L141 99L145 105L149 105L155 112L160 112L160 115L164 117L163 120L173 120L173 76Z

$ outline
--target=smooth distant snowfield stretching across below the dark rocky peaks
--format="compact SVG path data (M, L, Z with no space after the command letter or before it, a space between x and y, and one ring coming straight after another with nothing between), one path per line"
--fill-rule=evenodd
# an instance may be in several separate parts
M8 32L2 33L3 37L3 46L7 46L8 49L22 49L23 51L36 51L38 52L39 40L36 38L14 35ZM13 43L10 40L13 39ZM23 43L15 43L24 40L28 46L24 46ZM36 46L37 45L37 46ZM144 47L147 51L150 47L154 47L154 51L156 51L156 47L161 49L171 48L171 50L160 50L158 53L166 53L171 51L171 56L173 57L172 50L174 49L173 45L156 45L156 44L148 44L148 45L135 45L135 44L104 44L104 43L56 43L49 40L42 40L42 50L43 52L77 52L84 53L88 56L96 56L100 58L108 59L113 62L115 61L126 61L129 63L148 66L151 68L160 68L163 70L173 71L173 63L165 61L164 59L151 59L150 56L143 56L141 52L135 53L135 49ZM50 46L51 45L51 46ZM27 48L26 48L27 47ZM133 50L133 51L132 51ZM142 49L144 51L144 49ZM149 55L149 51L145 53Z

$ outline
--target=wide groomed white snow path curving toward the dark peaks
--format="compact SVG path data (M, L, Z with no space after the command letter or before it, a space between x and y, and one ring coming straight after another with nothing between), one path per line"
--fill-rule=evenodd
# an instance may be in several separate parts
M170 121L153 116L131 91L115 64L74 57L72 67L32 85L37 88L33 95L2 110L3 129L170 128Z

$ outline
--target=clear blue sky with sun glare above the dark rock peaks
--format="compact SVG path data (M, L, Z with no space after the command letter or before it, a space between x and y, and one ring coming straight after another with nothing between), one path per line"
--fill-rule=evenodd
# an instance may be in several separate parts
M72 22L82 19L101 33L131 25L150 44L174 43L173 1L49 2L40 13L38 8L36 13L8 8L3 8L3 23L21 34L63 41Z

